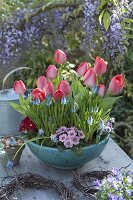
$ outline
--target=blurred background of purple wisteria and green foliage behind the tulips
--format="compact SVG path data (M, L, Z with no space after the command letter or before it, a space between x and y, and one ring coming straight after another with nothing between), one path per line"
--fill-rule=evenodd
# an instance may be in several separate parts
M133 158L132 17L133 3L127 0L0 0L0 84L7 72L24 66L33 71L14 74L6 87L20 78L35 87L36 78L55 64L57 48L67 53L69 72L101 56L108 61L107 84L114 74L126 77L123 98L111 115L114 139Z

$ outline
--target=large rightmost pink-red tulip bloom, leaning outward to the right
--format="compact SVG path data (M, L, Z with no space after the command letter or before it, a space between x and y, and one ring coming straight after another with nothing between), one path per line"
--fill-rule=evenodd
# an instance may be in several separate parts
M109 84L109 90L116 95L122 91L124 87L124 77L122 74L114 76Z

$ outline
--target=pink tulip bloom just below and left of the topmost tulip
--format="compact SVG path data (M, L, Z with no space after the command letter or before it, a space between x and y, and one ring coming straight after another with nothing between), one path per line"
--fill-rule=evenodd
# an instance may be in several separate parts
M57 77L58 69L54 65L49 65L46 70L46 77L49 79L54 79Z

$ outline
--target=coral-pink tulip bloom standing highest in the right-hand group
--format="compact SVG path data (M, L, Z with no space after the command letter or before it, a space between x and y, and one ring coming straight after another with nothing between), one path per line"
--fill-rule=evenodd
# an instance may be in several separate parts
M97 56L94 63L94 70L96 74L102 75L106 72L106 69L107 69L107 62Z

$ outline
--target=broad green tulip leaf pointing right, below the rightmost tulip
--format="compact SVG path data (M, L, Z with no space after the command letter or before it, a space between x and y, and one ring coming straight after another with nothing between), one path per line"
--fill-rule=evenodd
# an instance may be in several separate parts
M122 98L122 96L106 98L101 102L101 107L103 108L103 110L111 109L113 104L115 104L116 101L120 98Z

